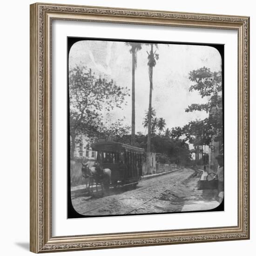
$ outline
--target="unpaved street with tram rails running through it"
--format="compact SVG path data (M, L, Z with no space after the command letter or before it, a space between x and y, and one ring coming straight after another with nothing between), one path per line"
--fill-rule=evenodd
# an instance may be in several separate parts
M194 210L194 202L197 209L205 209L205 202L214 201L216 192L197 190L200 176L201 172L182 168L142 180L136 189L111 189L104 197L85 196L84 190L76 190L71 193L72 204L84 216L173 213L181 212L184 205L185 211L189 211Z

